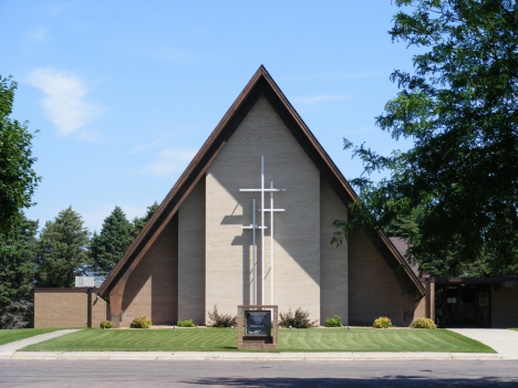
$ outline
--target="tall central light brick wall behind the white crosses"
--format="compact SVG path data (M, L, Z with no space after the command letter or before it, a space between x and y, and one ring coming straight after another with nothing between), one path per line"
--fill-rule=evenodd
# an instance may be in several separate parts
M259 193L239 192L260 187L261 155L265 186L270 181L286 192L274 195L274 298L279 312L302 307L320 318L320 174L265 97L245 117L206 176L206 307L215 304L221 313L236 314L239 304L251 304L252 198L260 208ZM266 207L269 207L267 196ZM260 217L260 213L257 212ZM257 221L260 224L260 218ZM266 217L269 224L269 216ZM270 238L265 239L265 303L270 304Z

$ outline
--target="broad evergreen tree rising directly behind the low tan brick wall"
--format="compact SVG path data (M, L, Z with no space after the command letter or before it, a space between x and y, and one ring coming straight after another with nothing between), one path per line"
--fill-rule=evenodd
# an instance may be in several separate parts
M90 232L70 207L46 221L38 248L37 282L40 287L73 287L75 276L90 264Z

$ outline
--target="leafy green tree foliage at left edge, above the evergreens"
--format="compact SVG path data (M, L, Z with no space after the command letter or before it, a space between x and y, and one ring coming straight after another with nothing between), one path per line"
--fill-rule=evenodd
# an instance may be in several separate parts
M0 76L0 231L8 232L18 212L29 208L40 177L32 169L33 135L28 123L19 123L12 113L17 83Z

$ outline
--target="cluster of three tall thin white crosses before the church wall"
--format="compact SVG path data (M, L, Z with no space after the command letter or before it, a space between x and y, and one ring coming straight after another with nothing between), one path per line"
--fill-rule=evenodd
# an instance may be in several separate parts
M261 282L261 303L265 304L265 229L268 227L265 226L265 212L270 212L270 263L271 263L271 273L270 273L270 304L273 304L273 212L274 211L286 211L284 209L274 209L273 208L273 192L274 191L286 191L286 189L274 189L273 182L270 182L270 188L265 189L265 157L261 156L261 188L260 189L239 189L239 191L260 191L261 192L261 208L258 211L261 212L261 226L256 226L256 200L252 200L252 224L247 227L241 227L241 229L251 229L252 230L252 261L253 261L253 280L252 280L252 290L253 290L253 304L256 304L256 229L261 230L261 269L262 269L262 282ZM265 209L265 192L270 192L270 209Z

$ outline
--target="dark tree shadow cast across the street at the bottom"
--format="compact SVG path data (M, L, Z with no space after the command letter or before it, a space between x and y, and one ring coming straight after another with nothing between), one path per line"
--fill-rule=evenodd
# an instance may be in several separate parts
M298 387L517 387L518 378L509 381L499 377L479 378L437 378L421 376L381 376L380 378L204 378L180 381L195 386L257 387L257 388L298 388Z

